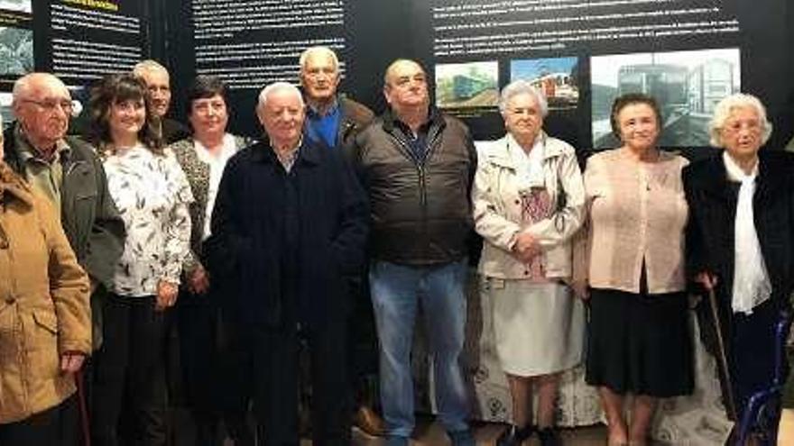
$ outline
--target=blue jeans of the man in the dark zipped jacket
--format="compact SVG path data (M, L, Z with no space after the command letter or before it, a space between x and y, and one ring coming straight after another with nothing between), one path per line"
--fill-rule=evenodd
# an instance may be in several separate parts
M376 261L370 269L381 342L381 404L392 437L408 438L413 431L411 344L420 301L441 423L448 432L468 429L466 385L458 363L466 323L466 265L466 259L426 268Z

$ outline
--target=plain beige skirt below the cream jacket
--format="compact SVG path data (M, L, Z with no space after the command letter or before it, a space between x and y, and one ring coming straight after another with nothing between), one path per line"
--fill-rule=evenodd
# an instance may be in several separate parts
M485 278L496 353L505 373L519 377L571 369L582 360L585 309L559 282Z

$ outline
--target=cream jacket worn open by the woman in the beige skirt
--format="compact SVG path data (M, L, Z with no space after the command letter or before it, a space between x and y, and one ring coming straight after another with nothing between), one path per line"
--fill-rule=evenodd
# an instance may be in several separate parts
M480 273L492 278L526 278L524 264L512 253L520 232L530 232L540 241L547 278L571 277L571 237L585 219L585 188L577 164L576 150L567 142L540 133L546 191L552 205L559 203L549 218L533 224L522 223L522 205L516 166L510 154L512 138L478 146L478 165L472 197L475 229L485 239ZM515 145L513 150L521 150Z

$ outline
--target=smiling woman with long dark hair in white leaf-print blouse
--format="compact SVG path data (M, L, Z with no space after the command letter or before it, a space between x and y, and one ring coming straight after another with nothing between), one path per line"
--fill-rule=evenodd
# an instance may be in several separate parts
M96 355L92 436L166 442L165 312L174 305L190 239L190 187L152 129L147 89L131 74L102 79L90 98L93 142L125 221L125 252L103 303L104 344Z

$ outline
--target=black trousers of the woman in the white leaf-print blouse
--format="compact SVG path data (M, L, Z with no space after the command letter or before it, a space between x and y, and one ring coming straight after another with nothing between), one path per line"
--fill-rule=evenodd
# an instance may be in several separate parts
M105 341L94 363L93 444L164 445L168 314L155 311L154 296L107 297L102 305Z

